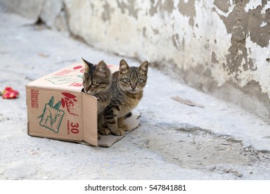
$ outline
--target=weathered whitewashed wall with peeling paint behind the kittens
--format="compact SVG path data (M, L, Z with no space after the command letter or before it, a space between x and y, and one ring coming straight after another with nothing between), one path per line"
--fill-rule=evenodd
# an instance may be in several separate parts
M0 2L102 50L149 60L270 121L270 1ZM24 6L12 6L18 2Z

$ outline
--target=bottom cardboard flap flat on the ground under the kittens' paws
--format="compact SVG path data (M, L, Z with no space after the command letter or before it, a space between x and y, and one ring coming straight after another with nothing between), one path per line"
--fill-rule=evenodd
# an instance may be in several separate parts
M132 116L129 116L128 118L125 119L125 124L129 126L129 131L131 132L132 130L136 129L136 127L138 127L138 125L140 124L140 121L138 120L138 117L141 116L141 114L139 112L132 112ZM109 134L109 135L100 135L100 139L98 140L98 145L102 146L102 147L110 147L111 145L113 145L114 143L116 143L116 141L119 141L120 139L122 139L125 135L123 136L116 136L113 134Z

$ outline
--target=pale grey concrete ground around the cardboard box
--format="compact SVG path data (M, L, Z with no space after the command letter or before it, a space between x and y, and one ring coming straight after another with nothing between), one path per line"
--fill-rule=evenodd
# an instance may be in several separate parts
M141 125L110 148L28 136L25 85L81 57L123 58L0 11L0 91L20 92L0 98L0 179L270 179L269 124L152 67Z

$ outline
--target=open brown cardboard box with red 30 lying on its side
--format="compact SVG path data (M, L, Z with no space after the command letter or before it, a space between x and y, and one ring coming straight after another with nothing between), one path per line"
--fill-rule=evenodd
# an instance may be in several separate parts
M112 73L117 65L109 65ZM101 136L98 140L96 97L82 92L83 64L73 64L26 85L28 134L64 141L109 147L123 136ZM125 123L134 130L139 114Z

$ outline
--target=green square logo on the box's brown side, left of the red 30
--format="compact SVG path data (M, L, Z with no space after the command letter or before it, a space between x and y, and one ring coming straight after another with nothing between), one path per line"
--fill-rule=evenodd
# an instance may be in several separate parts
M55 133L59 132L60 125L62 123L62 118L64 116L64 111L60 110L61 101L53 106L55 98L52 96L51 100L45 104L43 114L38 118L42 118L39 125L46 127Z

